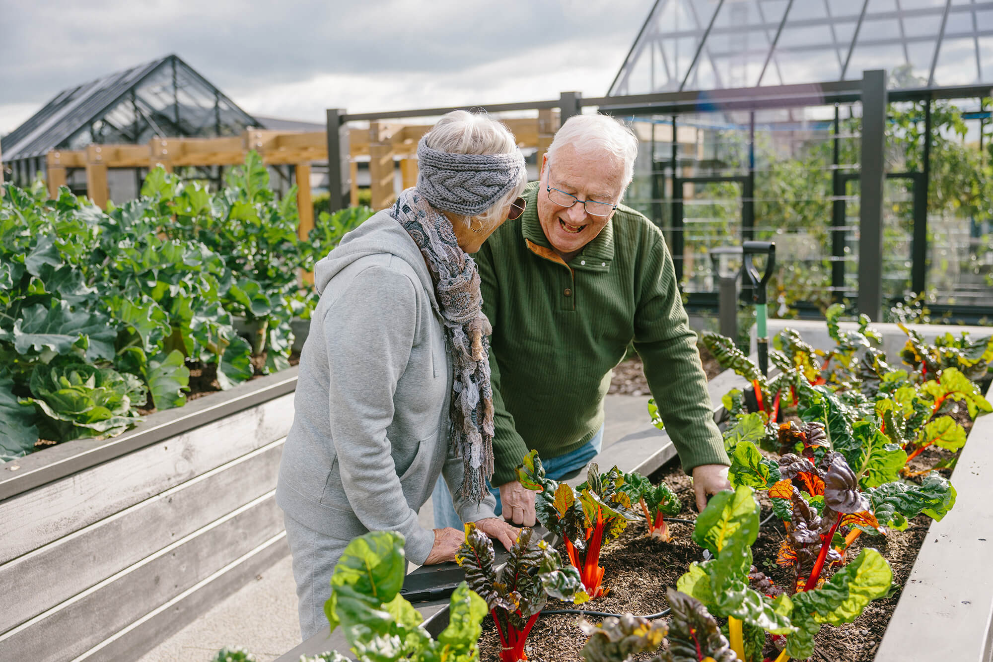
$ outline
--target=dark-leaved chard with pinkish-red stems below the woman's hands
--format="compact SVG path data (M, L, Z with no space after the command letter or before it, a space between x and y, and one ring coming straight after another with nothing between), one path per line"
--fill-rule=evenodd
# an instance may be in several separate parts
M528 528L521 529L506 565L497 570L493 542L470 522L456 561L470 589L490 608L501 662L527 659L524 643L549 596L577 604L589 599L576 569L564 566L558 552Z

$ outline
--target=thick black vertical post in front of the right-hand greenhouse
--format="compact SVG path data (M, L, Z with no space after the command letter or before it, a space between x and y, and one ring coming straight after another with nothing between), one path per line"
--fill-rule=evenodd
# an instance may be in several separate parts
M859 177L859 313L883 320L883 195L886 71L862 73L862 168Z

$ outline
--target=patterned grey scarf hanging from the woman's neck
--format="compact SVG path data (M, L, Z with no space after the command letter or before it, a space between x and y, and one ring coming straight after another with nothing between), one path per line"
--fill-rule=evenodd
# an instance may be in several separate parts
M465 467L459 494L480 503L494 472L494 403L490 386L490 334L483 314L480 272L459 247L452 221L417 192L400 194L390 215L421 249L434 282L445 332L452 345L452 434L449 444Z

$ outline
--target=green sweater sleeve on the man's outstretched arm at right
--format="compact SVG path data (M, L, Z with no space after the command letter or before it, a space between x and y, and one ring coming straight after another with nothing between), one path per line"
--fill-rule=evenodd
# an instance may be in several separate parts
M684 471L700 464L730 464L714 424L707 377L676 286L672 256L661 234L651 234L642 242L635 312L635 348L648 388Z

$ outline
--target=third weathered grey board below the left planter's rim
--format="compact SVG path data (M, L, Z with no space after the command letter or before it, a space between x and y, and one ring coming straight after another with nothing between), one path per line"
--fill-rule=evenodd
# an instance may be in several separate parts
M63 662L184 592L283 531L275 490L163 548L43 616L0 635L13 659Z

